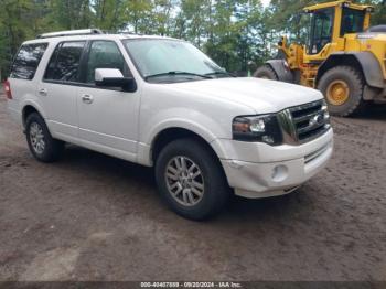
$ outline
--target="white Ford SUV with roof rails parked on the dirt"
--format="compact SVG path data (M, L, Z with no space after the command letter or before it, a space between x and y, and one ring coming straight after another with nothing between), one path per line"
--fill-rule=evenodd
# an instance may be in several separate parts
M57 160L68 142L154 167L162 197L193 220L232 192L290 193L333 151L321 93L234 77L175 39L43 34L23 43L4 87L39 161Z

